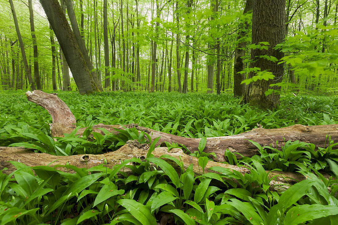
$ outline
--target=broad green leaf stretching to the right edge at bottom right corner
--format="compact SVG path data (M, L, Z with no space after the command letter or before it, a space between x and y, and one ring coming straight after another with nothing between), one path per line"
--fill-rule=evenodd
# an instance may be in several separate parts
M337 206L330 205L298 205L292 207L284 218L284 224L300 224L309 220L338 214Z

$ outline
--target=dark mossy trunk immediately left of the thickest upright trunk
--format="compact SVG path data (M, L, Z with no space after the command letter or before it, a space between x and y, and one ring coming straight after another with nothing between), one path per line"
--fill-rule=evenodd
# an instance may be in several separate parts
M246 0L243 15L246 15L252 10L252 1L253 0ZM239 72L245 69L243 60L245 57L246 38L249 32L248 22L245 21L245 23L241 23L239 29L234 61L234 97L242 96L245 93L245 83L241 84L241 82L245 80L246 74L240 74Z

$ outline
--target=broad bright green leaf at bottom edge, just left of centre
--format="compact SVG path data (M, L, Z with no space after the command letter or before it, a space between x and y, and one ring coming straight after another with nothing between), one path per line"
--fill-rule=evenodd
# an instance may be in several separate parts
M133 199L120 199L117 203L125 207L142 224L157 225L155 217L143 204Z

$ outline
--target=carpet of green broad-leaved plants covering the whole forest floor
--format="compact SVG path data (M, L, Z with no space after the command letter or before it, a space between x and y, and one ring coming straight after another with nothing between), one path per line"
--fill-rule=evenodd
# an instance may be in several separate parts
M28 102L22 92L2 92L0 146L55 155L100 154L115 151L128 140L149 144L152 137L135 128L121 130L119 135L103 129L102 135L93 132L93 125L137 123L201 138L198 151L186 153L198 158L203 175L196 176L192 165L184 168L169 155L154 158L151 152L158 139L152 141L145 160L132 158L112 169L105 167L106 160L83 169L27 167L11 161L17 170L0 176L0 224L338 224L338 150L330 136L318 150L313 144L287 141L276 143L283 146L281 151L252 142L258 154L251 158L237 159L225 151L227 163L250 171L245 175L220 167L204 173L211 154L203 152L206 137L238 134L259 125L335 124L337 98L287 96L278 108L261 110L239 105L240 99L226 94L59 92L58 96L74 114L76 130L88 127L83 136L76 136L74 130L63 138L51 138L51 117L45 109ZM177 143L167 146L186 150ZM177 164L180 172L164 158ZM272 191L274 178L266 170L296 172L307 179L279 193ZM324 178L322 172L331 177ZM217 183L224 188L214 186Z

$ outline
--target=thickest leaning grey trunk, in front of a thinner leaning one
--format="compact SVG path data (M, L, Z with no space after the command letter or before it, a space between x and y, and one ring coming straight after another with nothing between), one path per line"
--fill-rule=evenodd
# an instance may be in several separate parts
M58 1L40 0L40 3L65 54L79 92L89 94L99 91Z

